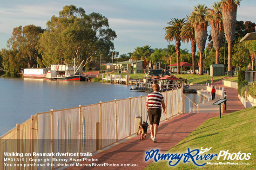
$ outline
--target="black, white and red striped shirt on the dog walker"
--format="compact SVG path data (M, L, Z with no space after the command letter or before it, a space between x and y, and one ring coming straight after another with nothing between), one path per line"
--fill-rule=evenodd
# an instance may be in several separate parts
M162 109L163 95L159 92L152 92L148 94L148 108L160 108Z

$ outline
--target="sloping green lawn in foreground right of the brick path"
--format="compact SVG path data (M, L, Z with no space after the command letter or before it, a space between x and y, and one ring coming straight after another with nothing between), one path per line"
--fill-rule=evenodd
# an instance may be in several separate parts
M145 170L256 170L256 107L250 107L234 113L222 115L205 121L201 126L190 133L179 144L171 148L168 153L187 153L188 148L211 148L209 154L219 154L220 151L229 153L251 153L249 160L216 160L196 161L197 164L211 163L250 163L250 165L205 165L198 167L192 163L183 163L183 159L175 167L168 165L167 161L149 164ZM163 144L167 145L167 144ZM208 153L208 152L206 152Z

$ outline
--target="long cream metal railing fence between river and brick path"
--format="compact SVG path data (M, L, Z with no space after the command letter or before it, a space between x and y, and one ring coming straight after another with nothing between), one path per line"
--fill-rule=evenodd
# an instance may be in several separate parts
M182 88L162 92L166 115L161 121L182 113ZM92 153L125 139L138 131L136 117L147 118L147 96L100 102L88 106L37 113L0 137L0 170L50 170L67 164L76 153ZM7 160L8 153L22 153ZM48 155L33 155L32 153ZM49 155L54 153L55 155ZM73 153L60 156L59 154ZM6 158L6 160L5 160ZM9 157L10 158L10 157ZM6 166L6 164L34 164L30 158L40 159L44 167ZM68 161L56 161L67 158ZM73 162L73 161L70 161ZM50 165L50 166L49 166Z

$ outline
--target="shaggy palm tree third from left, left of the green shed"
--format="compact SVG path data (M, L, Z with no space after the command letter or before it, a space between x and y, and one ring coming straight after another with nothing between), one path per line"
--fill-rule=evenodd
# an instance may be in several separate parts
M193 25L195 28L195 42L200 52L198 75L203 75L202 54L203 54L203 51L205 48L205 42L207 39L208 21L205 19L207 14L208 14L207 6L198 4L197 6L194 6L194 11L190 14L190 17L189 17L189 21L191 22L191 25Z

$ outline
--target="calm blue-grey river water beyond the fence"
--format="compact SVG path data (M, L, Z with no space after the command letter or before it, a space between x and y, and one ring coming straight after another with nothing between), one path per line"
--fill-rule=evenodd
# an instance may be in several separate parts
M130 85L99 82L0 78L0 136L36 113L147 95L130 88ZM186 95L195 103L203 100L197 94Z

